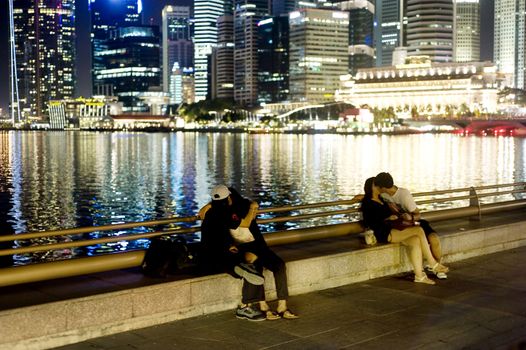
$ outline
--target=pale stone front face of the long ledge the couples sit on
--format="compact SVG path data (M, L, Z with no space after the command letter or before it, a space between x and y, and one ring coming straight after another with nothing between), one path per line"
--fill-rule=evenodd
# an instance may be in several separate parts
M441 236L444 260L454 262L526 245L526 222ZM404 248L379 245L287 262L289 290L298 295L410 271ZM265 272L267 297L275 298ZM241 282L219 274L0 312L0 349L46 349L232 310Z

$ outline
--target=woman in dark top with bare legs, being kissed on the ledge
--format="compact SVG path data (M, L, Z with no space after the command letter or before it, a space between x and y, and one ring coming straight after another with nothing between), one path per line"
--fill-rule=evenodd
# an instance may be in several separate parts
M380 198L380 191L371 177L365 181L365 195L362 200L364 224L373 230L380 243L402 243L409 248L409 260L413 265L416 283L435 284L429 279L422 268L422 258L432 266L434 272L446 273L449 269L435 260L424 231L420 226L410 226L404 229L392 227L392 222L399 219L392 214L389 205Z

